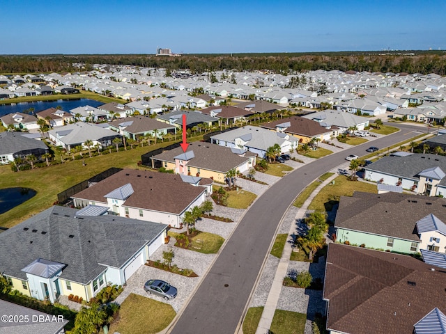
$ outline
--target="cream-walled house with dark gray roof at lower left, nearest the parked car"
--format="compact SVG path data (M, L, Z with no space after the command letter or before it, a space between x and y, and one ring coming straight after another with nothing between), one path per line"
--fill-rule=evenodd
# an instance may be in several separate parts
M89 301L123 285L164 242L167 225L54 206L0 233L0 269L13 289L54 303Z

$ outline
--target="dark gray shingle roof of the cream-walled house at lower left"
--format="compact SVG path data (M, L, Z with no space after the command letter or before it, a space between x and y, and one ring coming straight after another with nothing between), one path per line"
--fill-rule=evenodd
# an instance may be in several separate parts
M22 269L41 257L67 264L61 278L86 284L106 266L121 267L167 228L119 216L76 217L76 212L67 207L50 207L2 232L0 271L26 280Z

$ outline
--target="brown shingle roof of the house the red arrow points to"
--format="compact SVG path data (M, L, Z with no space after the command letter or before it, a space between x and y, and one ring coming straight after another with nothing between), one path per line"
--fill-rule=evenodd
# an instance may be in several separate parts
M225 148L224 146L210 143L190 143L189 147L187 148L187 152L190 151L194 152L194 158L190 159L187 166L213 170L221 173L227 173L228 170L237 168L241 164L245 164L245 162L248 160L247 157L240 157L239 155L231 152L231 148ZM174 157L182 153L182 148L174 148L174 150L157 154L151 159L174 163Z

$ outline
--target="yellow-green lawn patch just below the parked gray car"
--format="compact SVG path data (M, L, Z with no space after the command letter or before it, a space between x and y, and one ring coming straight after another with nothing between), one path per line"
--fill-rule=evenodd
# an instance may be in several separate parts
M109 333L155 334L169 326L176 316L171 305L130 294L121 304L118 317L112 322Z

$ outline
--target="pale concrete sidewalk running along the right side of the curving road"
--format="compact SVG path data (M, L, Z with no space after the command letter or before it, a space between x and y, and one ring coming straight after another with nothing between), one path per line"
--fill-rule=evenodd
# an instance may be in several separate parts
M298 213L296 214L296 217L303 218L305 216L305 213L307 212L307 208L309 204L312 202L313 198L317 195L321 189L332 182L335 177L339 176L337 173L337 169L330 170L330 172L334 173L332 176L330 176L327 180L321 182L321 184L318 185L318 187L310 194L310 196L305 200L304 204L300 209L298 210ZM289 230L289 236L293 235L295 232L295 224L291 224L291 228ZM288 240L287 240L288 241ZM282 253L282 257L279 260L279 265L277 266L277 270L275 273L274 280L271 285L270 293L268 294L268 299L266 301L265 307L263 308L263 313L261 315L261 319L259 321L259 326L257 327L256 334L265 334L268 333L271 324L272 324L272 318L275 315L275 311L277 309L277 303L279 301L280 292L282 291L282 282L284 280L284 277L286 276L286 272L288 270L289 262L290 262L290 256L291 256L291 244L289 242L286 242L284 251ZM310 325L311 326L311 325ZM307 331L306 331L307 333ZM310 332L311 333L311 332Z

